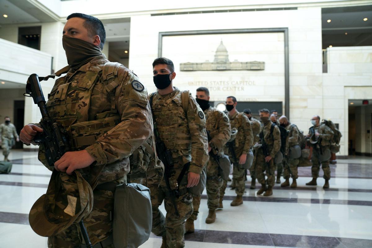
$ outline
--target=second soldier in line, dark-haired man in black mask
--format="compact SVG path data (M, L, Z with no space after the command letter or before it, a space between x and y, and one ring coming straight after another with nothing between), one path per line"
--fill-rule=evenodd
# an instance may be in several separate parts
M175 213L164 180L160 183L160 187L150 185L153 206L151 231L163 237L162 247L184 247L185 220L193 213L193 196L188 193L187 188L198 184L203 167L208 162L205 117L188 91L181 92L173 87L176 73L170 59L155 59L153 73L154 83L158 88L157 92L149 96L153 118L157 123L161 141L172 153L174 166L168 168L171 171L169 180L180 183L178 183L179 196L176 198L179 216ZM163 200L167 211L165 218L158 209ZM187 222L186 230L193 231L193 229L193 222Z

